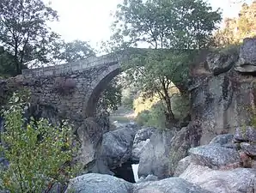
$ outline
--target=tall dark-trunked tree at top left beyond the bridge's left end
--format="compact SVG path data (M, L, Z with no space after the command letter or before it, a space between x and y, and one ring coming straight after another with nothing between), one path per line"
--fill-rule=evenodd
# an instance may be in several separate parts
M49 62L59 36L46 22L56 20L57 12L42 0L0 1L0 45L13 56L16 75L29 61Z

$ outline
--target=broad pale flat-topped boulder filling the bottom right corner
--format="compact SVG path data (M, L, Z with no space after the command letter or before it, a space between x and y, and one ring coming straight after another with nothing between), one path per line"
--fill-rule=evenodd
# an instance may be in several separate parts
M255 170L250 168L216 171L207 166L191 164L180 178L214 193L253 193L250 190L253 187L255 174Z

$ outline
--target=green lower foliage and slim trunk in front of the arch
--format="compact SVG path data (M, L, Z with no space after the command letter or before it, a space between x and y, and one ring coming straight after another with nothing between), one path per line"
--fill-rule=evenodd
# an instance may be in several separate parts
M168 91L174 84L180 92L186 92L188 79L190 52L185 51L146 51L143 55L131 57L125 68L129 81L133 80L137 90L143 92L143 97L152 97L155 94L165 103L165 114L174 119L171 97ZM173 84L174 82L174 84Z

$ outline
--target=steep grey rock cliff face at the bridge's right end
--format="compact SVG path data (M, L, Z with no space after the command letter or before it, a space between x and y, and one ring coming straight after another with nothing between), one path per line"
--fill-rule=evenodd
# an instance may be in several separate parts
M239 53L210 54L193 69L191 114L201 124L201 145L249 124L256 102L255 58L256 39L245 39Z

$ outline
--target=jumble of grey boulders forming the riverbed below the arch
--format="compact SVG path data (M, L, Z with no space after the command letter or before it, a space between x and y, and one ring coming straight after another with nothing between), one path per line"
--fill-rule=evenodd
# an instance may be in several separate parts
M235 135L219 135L209 144L198 147L188 145L192 143L186 134L191 129L192 125L188 125L175 132L127 124L109 131L103 136L101 159L112 175L89 173L73 178L69 190L84 193L254 193L256 129L237 128ZM136 163L139 179L135 183L131 169L127 171L129 165ZM115 173L117 168L122 168L119 170L122 175Z

